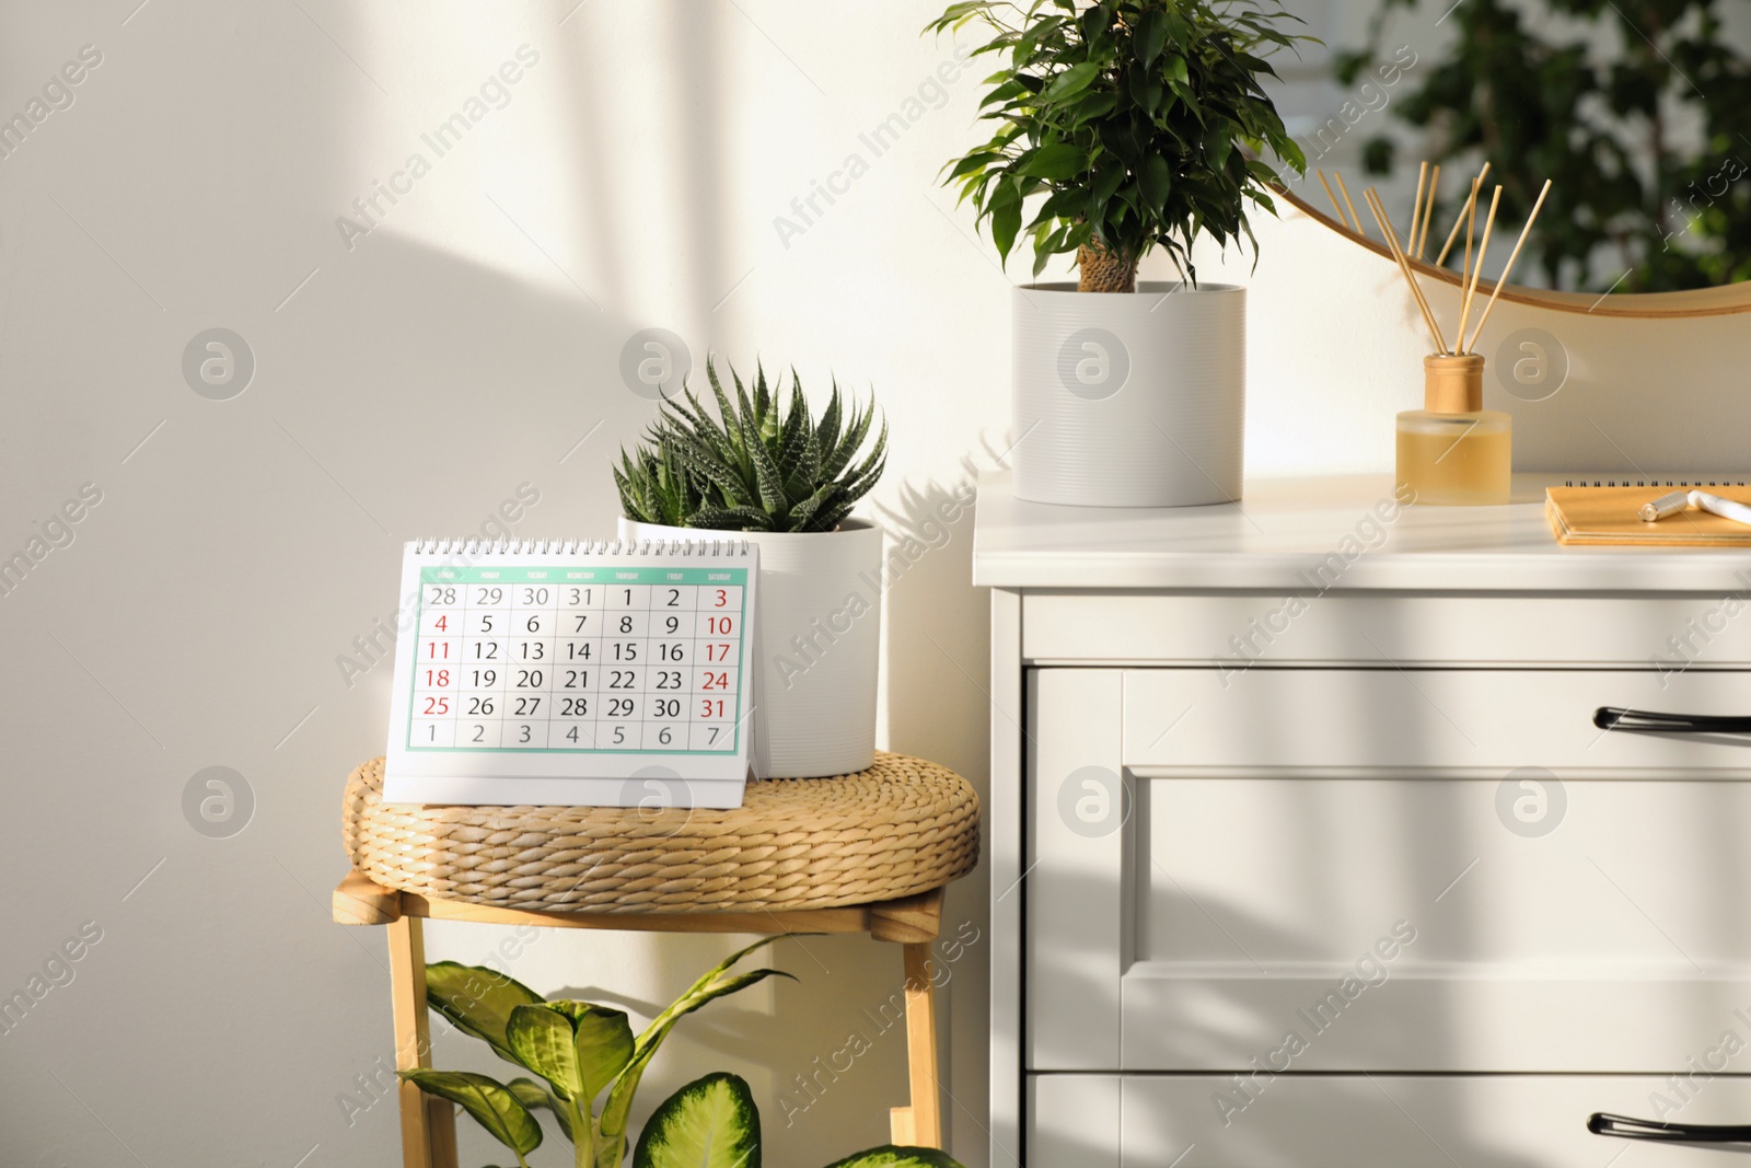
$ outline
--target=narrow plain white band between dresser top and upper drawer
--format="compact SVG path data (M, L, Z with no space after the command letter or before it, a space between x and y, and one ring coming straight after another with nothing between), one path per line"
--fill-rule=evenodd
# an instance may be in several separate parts
M1023 655L1210 665L1751 667L1751 581L1739 595L1565 597L1262 594L1023 597Z

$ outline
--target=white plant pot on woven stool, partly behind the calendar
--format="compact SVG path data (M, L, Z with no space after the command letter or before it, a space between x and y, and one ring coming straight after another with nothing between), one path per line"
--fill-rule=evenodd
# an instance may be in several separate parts
M620 520L622 539L760 545L755 611L755 753L774 779L867 770L876 762L881 529L847 518L807 534L718 532Z

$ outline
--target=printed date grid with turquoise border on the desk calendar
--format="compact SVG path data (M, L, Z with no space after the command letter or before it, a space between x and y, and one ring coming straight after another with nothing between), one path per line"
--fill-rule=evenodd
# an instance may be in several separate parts
M420 567L404 746L735 755L746 567Z

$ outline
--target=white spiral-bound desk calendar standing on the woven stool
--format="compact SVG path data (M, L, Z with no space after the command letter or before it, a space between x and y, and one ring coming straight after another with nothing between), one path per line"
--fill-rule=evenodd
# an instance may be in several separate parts
M429 539L387 802L739 807L758 546Z

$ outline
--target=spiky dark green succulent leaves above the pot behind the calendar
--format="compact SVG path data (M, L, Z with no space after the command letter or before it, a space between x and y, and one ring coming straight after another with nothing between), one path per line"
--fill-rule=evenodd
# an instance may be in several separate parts
M814 420L795 369L790 398L767 387L756 368L753 394L730 369L730 399L706 361L716 398L713 419L692 391L664 401L632 454L620 452L615 485L627 518L711 531L833 531L868 494L886 468L888 424L858 461L876 419L876 403L847 403L839 383Z

